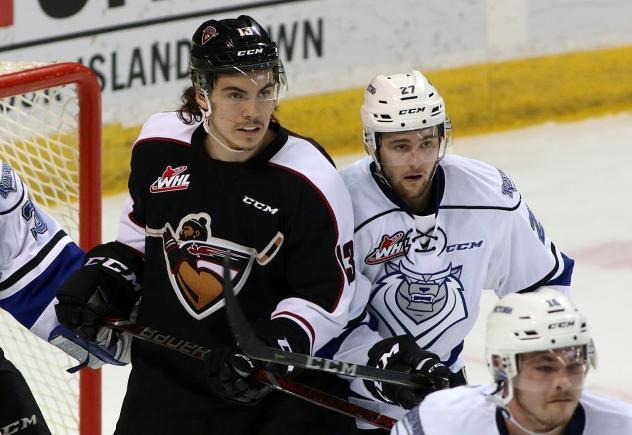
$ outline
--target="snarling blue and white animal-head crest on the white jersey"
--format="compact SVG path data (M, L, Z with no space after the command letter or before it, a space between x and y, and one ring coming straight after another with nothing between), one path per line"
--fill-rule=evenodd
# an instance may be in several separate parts
M389 333L408 333L421 346L431 346L451 326L468 317L462 266L450 263L438 272L418 273L403 262L385 265L371 295L371 310Z

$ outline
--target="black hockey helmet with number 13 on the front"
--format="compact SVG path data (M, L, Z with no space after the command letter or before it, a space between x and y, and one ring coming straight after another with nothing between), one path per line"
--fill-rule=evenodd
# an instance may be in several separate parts
M275 83L286 86L276 43L248 15L205 21L191 42L189 70L197 90L210 94L219 74L243 74L259 69L270 69Z

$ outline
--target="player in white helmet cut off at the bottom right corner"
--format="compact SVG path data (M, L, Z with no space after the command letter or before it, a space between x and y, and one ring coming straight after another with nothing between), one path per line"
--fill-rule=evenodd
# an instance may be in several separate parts
M584 390L595 349L584 316L542 288L501 298L487 318L493 385L430 394L391 435L632 433L632 405Z

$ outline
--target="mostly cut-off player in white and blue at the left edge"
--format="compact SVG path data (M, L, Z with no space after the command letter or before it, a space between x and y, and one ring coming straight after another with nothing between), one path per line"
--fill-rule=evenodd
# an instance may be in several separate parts
M27 186L0 161L0 308L25 328L76 358L81 368L124 363L124 340L102 347L61 326L55 316L55 289L81 265L83 251L58 223L35 205ZM50 431L19 370L0 349L0 433Z

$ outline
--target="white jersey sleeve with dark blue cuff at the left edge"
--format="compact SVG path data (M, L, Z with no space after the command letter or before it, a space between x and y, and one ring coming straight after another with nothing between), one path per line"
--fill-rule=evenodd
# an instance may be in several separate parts
M59 324L55 290L83 252L31 201L11 167L0 161L0 169L0 308L48 340Z

